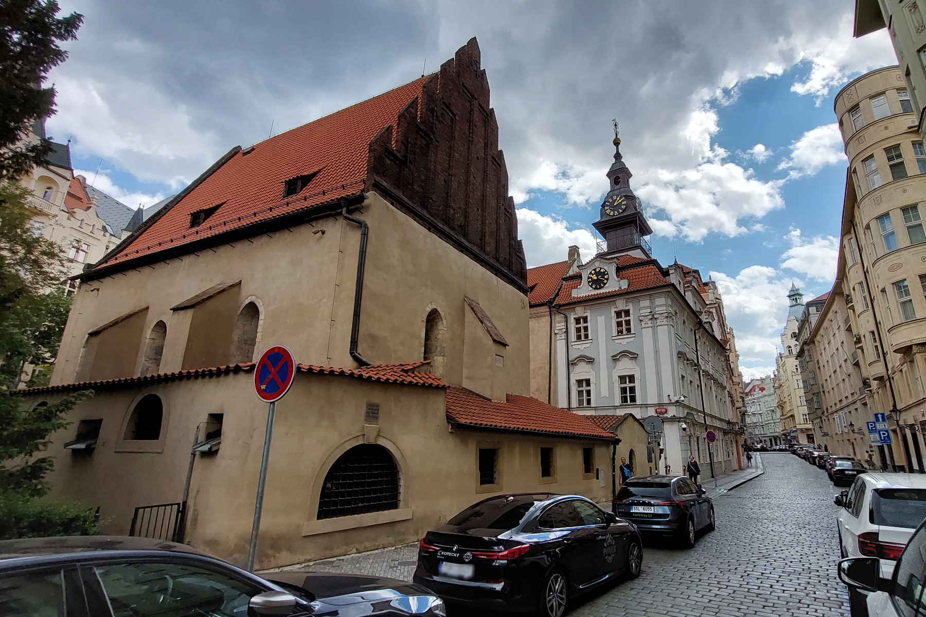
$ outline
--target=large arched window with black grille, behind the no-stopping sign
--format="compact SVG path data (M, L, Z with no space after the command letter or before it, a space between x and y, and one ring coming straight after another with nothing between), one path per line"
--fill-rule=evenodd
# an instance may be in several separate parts
M338 457L325 475L318 518L399 507L399 468L382 446L363 443Z

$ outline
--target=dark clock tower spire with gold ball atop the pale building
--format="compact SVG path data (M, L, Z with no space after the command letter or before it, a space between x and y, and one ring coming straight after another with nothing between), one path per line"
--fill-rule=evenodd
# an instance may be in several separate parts
M617 131L615 131L617 133ZM640 201L631 191L631 170L624 164L620 154L620 138L614 138L614 164L607 170L611 189L601 204L601 217L593 223L594 228L607 241L603 254L633 254L649 258L650 247L644 236L653 233L640 209Z

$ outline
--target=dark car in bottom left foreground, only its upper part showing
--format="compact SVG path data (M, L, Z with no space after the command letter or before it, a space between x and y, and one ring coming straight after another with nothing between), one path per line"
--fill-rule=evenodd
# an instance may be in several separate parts
M262 578L188 546L144 537L0 542L0 615L68 617L444 617L417 585L350 574Z

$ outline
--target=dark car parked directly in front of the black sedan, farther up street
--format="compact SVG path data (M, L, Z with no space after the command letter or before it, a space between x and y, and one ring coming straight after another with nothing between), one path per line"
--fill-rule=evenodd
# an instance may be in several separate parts
M695 532L713 531L717 524L714 503L704 489L673 475L631 478L620 487L613 509L640 531L672 535L688 549L694 547Z

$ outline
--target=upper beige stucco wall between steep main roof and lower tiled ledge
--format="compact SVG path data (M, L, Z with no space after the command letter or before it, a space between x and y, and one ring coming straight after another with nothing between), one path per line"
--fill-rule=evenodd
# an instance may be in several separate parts
M493 398L504 392L528 394L527 298L376 193L369 193L362 211L354 214L369 222L358 351L372 363L420 360L425 319L437 308L446 326L444 379L448 383ZM217 283L238 279L240 287L223 293L222 302L227 302L228 294L237 294L236 312L249 299L257 300L262 307L258 350L286 344L301 363L356 366L348 347L358 244L359 228L339 216L316 221L314 228L283 229L89 281L75 298L52 383L75 380L87 332L145 306L149 308L144 337L158 320L168 327L162 372L193 368L182 352L190 332L199 341L197 346L211 339L215 349L227 350L227 320L215 315L203 320L191 317L205 310L202 305L185 311L169 309ZM492 343L481 325L466 327L472 312L464 296L480 302L507 339L507 348ZM464 353L467 337L478 353ZM495 353L504 355L502 366L496 365ZM218 364L218 358L208 360ZM139 370L140 360L135 366ZM480 379L468 383L465 370Z

